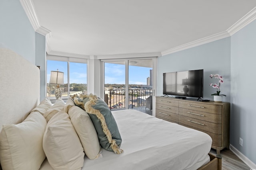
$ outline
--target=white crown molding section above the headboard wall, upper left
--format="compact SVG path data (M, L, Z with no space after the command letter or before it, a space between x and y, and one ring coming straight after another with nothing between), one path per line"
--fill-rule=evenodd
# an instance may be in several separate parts
M39 20L36 16L36 11L34 9L34 5L33 5L32 1L31 0L20 0L20 3L22 5L24 11L26 12L26 14L28 16L28 20L30 21L34 30L37 33L40 33L44 36L46 36L47 34L50 34L50 37L51 37L52 36L51 31L40 25Z

